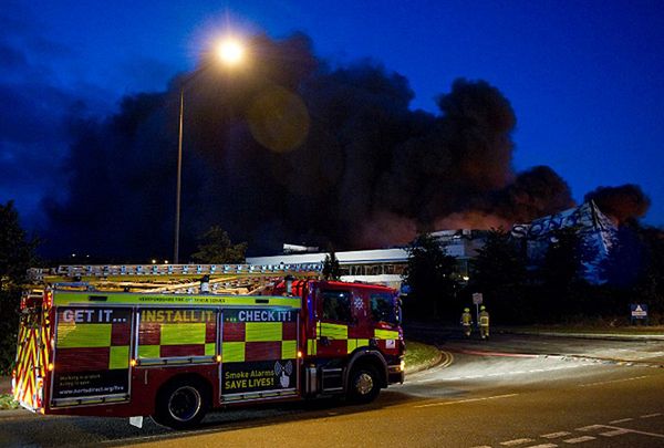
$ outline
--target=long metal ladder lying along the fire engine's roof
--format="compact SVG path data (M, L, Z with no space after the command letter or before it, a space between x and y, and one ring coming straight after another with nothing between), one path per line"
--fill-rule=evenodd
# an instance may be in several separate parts
M322 264L87 264L32 268L33 285L54 289L196 294L257 294L284 277L313 279Z

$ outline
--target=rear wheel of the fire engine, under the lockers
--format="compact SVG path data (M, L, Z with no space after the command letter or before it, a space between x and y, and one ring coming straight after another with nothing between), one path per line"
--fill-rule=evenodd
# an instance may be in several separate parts
M153 419L173 429L197 426L208 409L208 390L196 381L167 384L157 395Z

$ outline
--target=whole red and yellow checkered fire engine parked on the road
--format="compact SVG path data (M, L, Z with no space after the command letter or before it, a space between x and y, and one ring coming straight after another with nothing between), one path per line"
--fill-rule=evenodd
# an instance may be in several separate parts
M21 304L14 398L42 414L137 426L152 416L179 429L212 408L331 395L369 403L403 383L395 290L292 267L179 268L60 267L42 279ZM52 281L63 277L75 281ZM237 294L240 283L249 294Z

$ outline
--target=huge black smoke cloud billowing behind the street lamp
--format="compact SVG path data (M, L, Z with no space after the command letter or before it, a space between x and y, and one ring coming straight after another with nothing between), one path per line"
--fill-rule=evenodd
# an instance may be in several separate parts
M104 119L72 121L69 200L46 204L52 253L169 258L180 88L185 260L211 226L248 241L250 253L282 242L344 250L448 226L509 226L573 205L550 168L513 171L515 113L484 81L456 81L434 115L408 108L403 76L371 62L331 69L304 35L257 37L250 53L245 69L221 71L204 58L164 93L126 97Z

